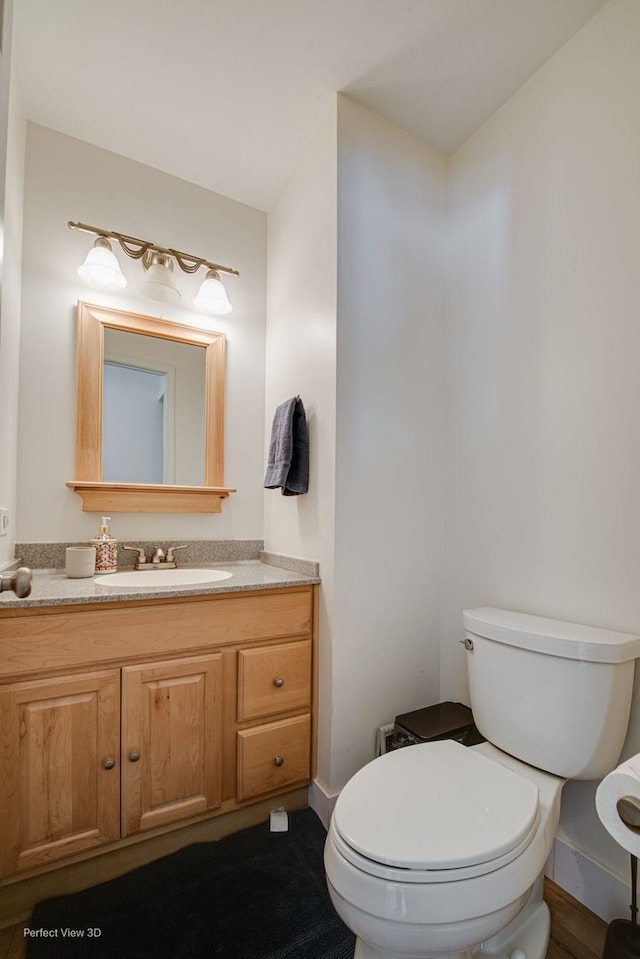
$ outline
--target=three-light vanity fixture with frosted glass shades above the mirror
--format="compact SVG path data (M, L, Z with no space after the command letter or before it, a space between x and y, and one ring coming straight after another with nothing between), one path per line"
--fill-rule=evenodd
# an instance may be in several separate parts
M114 230L102 230L99 227L75 223L72 220L69 220L68 226L71 230L93 233L97 237L86 260L78 267L79 276L92 286L98 286L103 290L121 290L126 286L126 278L109 242L117 240L127 256L134 260L141 260L145 276L140 284L140 291L145 296L163 303L178 303L181 294L173 277L174 263L178 264L183 273L196 273L200 267L206 267L207 274L193 301L194 306L198 310L215 316L231 313L231 303L222 285L220 274L239 276L238 270L230 266L220 266L219 263L211 263L191 253L158 246L149 240L139 240L135 236L117 233Z

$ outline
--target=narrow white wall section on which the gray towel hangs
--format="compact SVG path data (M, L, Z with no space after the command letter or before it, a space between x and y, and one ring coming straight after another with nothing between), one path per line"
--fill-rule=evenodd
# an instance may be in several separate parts
M333 686L336 395L336 102L269 213L265 451L273 412L300 394L309 492L265 490L265 548L320 562L318 780L328 790ZM266 455L266 454L265 454Z

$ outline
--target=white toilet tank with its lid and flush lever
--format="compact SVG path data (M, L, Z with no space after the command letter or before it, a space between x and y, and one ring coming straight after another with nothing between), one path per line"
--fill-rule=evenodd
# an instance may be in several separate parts
M601 779L624 744L640 637L485 607L463 613L475 723L512 756Z

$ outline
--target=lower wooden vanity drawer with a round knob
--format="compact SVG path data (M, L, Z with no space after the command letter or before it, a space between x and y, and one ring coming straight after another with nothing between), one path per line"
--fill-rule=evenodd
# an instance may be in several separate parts
M309 779L309 715L238 733L238 800Z

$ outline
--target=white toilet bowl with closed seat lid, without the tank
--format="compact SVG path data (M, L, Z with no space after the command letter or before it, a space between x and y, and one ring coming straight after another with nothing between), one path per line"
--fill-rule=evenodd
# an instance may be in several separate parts
M563 784L489 743L453 740L361 769L338 798L325 845L329 894L358 937L357 959L506 959L515 949L543 959L549 919L537 880ZM515 928L504 935L520 916L524 938Z

